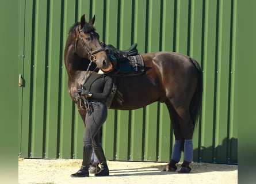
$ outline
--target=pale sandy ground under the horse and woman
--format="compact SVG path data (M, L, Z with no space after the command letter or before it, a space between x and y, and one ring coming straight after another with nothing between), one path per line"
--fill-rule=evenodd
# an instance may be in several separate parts
M18 182L54 183L238 183L238 166L226 164L192 163L189 174L162 171L163 162L108 161L109 177L71 178L82 160L79 159L19 159ZM178 164L180 166L180 164Z

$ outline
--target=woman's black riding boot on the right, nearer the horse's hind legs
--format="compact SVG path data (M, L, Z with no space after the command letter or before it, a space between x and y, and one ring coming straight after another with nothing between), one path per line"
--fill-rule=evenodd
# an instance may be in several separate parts
M97 156L98 160L100 161L100 164L101 164L101 170L94 174L95 177L105 177L105 176L108 176L109 175L109 168L108 168L108 165L106 164L106 158L105 158L105 155L104 155L104 152L101 148L101 146L99 146L97 148L97 150L94 150L95 152L95 155Z

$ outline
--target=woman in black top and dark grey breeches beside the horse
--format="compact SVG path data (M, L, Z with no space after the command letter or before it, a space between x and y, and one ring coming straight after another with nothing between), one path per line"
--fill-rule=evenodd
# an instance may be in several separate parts
M95 174L96 177L108 176L109 169L106 164L104 151L100 144L100 129L108 114L106 98L108 98L113 86L113 80L105 74L90 72L82 89L77 90L74 98L83 101L86 106L85 132L83 134L83 162L77 173L71 177L89 177L91 153L95 155L101 164L101 170Z

